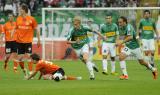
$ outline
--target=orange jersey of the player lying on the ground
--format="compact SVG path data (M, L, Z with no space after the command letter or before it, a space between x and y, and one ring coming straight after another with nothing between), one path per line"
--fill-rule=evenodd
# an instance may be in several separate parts
M57 71L60 67L49 61L40 60L36 64L35 71L40 71L42 74L52 74Z

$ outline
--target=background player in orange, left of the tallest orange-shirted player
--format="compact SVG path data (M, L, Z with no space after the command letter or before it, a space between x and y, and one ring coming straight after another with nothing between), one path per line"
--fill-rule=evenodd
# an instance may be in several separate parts
M17 34L15 31L16 23L14 22L14 15L13 13L8 14L8 21L4 24L2 29L2 35L5 36L5 61L4 61L4 69L7 70L7 65L9 58L12 55L13 62L14 62L14 72L17 72Z

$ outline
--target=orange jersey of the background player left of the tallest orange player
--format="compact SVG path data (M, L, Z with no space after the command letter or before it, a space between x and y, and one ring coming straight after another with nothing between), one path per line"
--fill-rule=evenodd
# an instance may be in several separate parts
M16 23L15 22L6 22L3 26L3 33L5 34L5 41L16 41L17 34L15 31Z

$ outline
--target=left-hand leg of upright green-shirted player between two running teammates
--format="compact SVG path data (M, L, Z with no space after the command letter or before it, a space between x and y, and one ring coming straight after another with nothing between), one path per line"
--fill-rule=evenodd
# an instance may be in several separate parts
M108 62L107 62L107 55L109 52L109 48L107 47L107 43L103 42L102 43L102 74L108 75L108 70L107 70L107 66L108 66Z

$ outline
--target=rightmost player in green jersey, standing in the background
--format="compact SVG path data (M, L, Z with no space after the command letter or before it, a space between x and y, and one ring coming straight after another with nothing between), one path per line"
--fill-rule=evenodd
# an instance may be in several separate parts
M139 38L139 33L141 32L142 48L145 54L145 60L154 66L154 34L156 33L158 38L157 40L159 40L159 33L156 30L155 21L151 18L151 12L149 10L145 10L143 15L144 18L140 20L137 38Z

